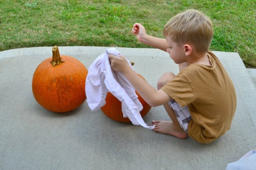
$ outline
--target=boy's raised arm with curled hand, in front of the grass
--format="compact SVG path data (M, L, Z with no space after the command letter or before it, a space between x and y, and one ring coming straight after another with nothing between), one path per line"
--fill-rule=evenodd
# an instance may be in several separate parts
M169 46L166 43L164 38L157 38L157 37L147 35L145 28L139 23L135 23L133 25L132 33L135 34L138 41L140 41L146 45L163 50L165 52Z

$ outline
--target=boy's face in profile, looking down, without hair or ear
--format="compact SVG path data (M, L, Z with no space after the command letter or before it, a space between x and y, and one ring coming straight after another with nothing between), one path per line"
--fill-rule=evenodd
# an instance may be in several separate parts
M186 55L183 45L179 46L177 43L171 40L170 36L165 37L166 43L169 45L167 52L170 54L171 59L177 64L186 62Z

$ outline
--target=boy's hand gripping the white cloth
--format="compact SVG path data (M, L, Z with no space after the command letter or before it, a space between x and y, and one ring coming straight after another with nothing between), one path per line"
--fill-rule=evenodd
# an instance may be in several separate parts
M108 58L110 61L111 69L116 72L120 72L124 74L126 71L128 71L131 68L129 65L129 62L123 55L120 55L120 57L117 57L115 55L108 54Z

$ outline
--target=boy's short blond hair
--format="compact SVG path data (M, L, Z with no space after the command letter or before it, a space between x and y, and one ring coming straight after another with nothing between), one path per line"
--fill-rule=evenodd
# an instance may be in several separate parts
M191 43L198 53L204 53L211 45L213 25L208 16L189 9L172 17L165 25L163 35L178 45Z

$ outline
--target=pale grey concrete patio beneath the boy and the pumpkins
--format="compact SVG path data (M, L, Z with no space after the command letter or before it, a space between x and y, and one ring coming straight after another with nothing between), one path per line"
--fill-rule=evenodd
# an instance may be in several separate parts
M87 68L109 47L59 47ZM178 73L168 53L149 48L118 48L152 86L166 71ZM120 123L84 102L65 113L45 110L33 97L33 73L52 56L52 47L0 52L0 169L86 170L224 170L256 148L256 72L238 53L213 51L230 75L237 93L231 129L210 144L178 139L142 126ZM221 96L220 96L221 97ZM143 118L169 120L162 106Z

